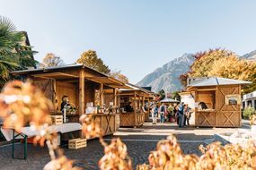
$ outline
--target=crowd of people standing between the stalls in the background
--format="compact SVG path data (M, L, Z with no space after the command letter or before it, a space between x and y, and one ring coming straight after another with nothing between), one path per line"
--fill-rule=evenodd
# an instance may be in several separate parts
M183 102L181 104L154 105L151 110L153 123L157 122L157 118L160 118L160 123L174 123L177 122L179 127L187 127L190 125L191 108Z

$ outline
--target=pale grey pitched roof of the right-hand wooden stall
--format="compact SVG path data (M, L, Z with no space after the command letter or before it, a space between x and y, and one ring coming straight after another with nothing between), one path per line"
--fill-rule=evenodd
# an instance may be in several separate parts
M226 79L220 77L207 77L199 81L191 82L188 87L202 87L202 86L218 86L218 85L234 85L234 84L251 84L251 81L239 81L234 79Z

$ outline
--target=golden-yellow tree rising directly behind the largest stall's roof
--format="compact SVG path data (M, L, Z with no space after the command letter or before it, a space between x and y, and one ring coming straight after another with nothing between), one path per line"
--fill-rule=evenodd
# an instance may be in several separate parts
M102 59L98 57L96 51L88 50L84 52L76 61L77 64L84 64L98 72L110 73L109 66L103 63Z

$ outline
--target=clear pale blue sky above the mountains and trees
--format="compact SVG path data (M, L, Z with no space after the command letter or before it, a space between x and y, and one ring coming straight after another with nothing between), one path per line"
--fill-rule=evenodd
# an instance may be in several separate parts
M96 50L133 83L184 53L256 49L256 1L0 0L0 15L26 30L38 61L49 52L72 64Z

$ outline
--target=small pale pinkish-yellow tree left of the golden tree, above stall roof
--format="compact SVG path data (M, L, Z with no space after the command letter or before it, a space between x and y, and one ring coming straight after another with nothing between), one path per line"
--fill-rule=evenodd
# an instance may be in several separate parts
M41 67L54 67L63 64L64 61L60 58L60 56L54 55L53 53L49 53L43 58Z

